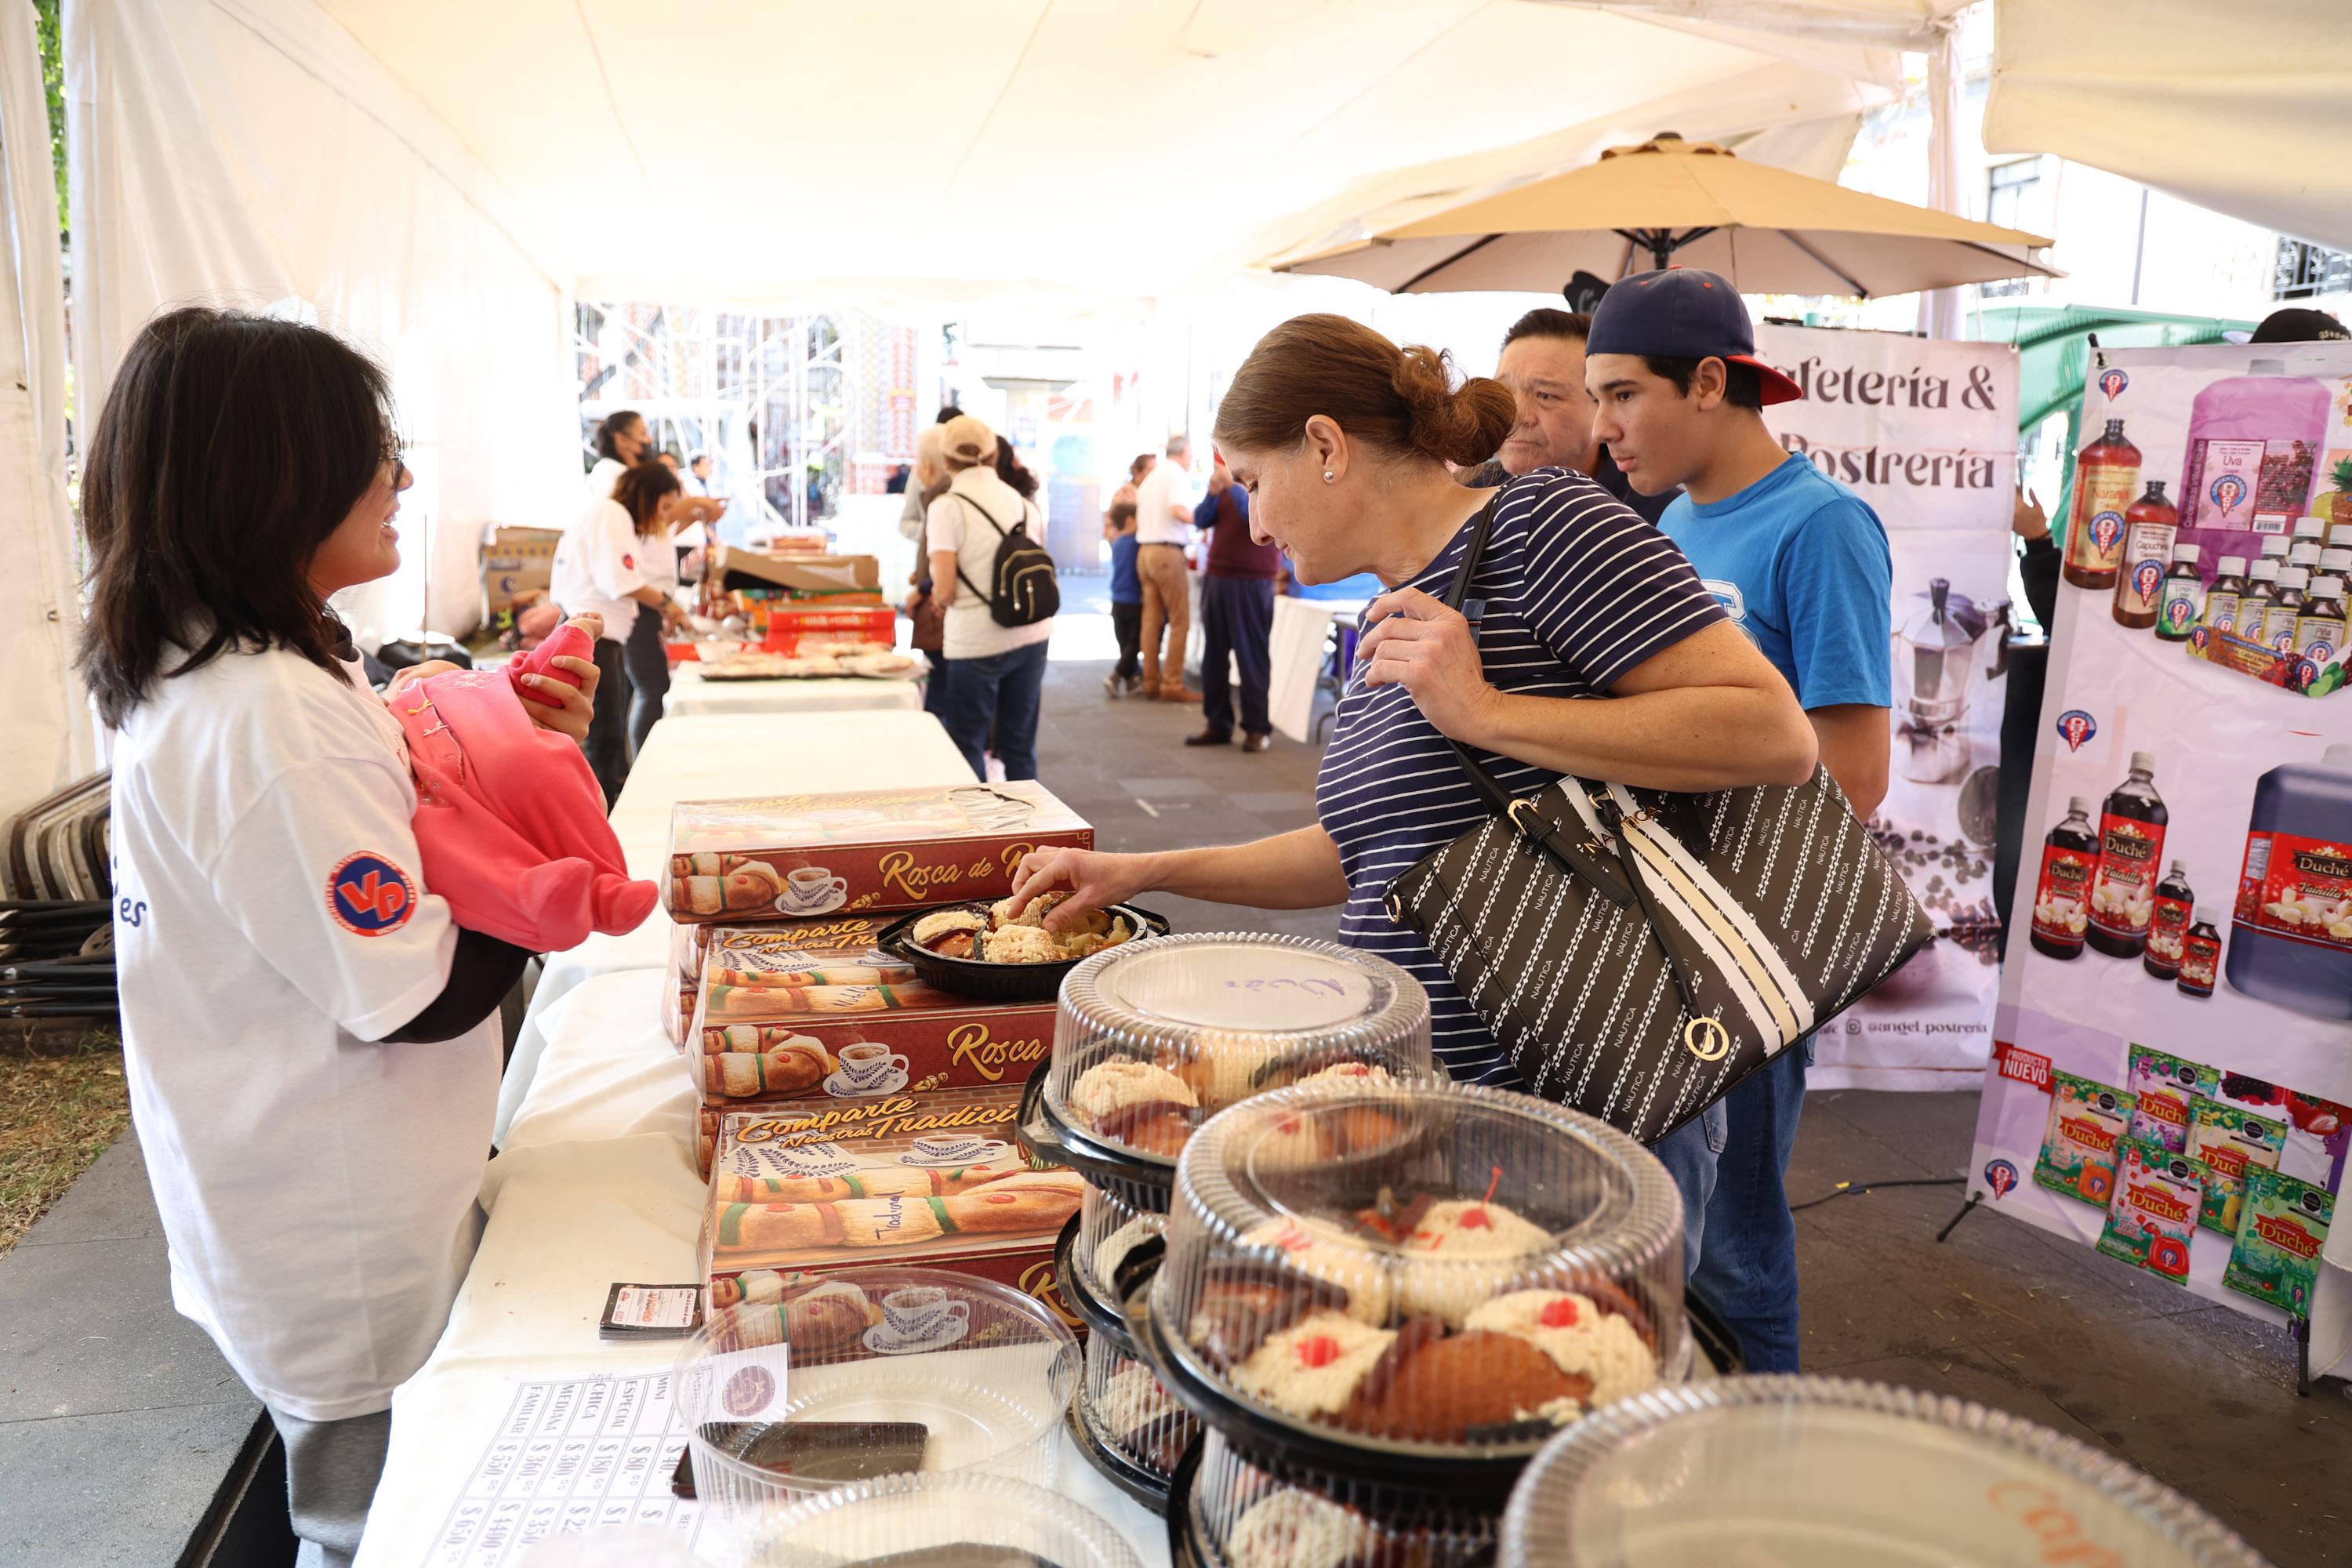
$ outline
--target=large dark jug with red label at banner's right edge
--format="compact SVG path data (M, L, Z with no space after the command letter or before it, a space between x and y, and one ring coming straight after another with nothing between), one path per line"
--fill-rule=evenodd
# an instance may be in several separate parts
M2253 783L2234 926L2232 987L2312 1018L2352 1018L2352 745Z

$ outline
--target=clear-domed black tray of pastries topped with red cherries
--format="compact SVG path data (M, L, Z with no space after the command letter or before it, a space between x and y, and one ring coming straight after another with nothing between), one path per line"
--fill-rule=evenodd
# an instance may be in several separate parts
M1221 1112L1176 1166L1148 1302L1145 1349L1202 1420L1249 1458L1364 1479L1508 1488L1498 1465L1691 1361L1665 1166L1581 1112L1458 1084Z

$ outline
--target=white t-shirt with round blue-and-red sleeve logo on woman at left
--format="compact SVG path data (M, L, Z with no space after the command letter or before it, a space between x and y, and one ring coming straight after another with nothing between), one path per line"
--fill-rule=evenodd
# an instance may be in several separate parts
M397 719L358 665L228 654L113 745L132 1121L172 1302L275 1410L390 1408L480 1237L499 1020L372 1044L449 978ZM397 701L397 698L395 698Z

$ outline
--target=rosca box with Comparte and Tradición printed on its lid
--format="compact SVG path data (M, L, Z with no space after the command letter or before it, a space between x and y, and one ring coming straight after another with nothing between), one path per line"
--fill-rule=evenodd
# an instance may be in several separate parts
M863 1121L821 1105L724 1117L701 1237L713 1307L769 1300L795 1272L877 1262L1051 1286L1054 1239L1087 1185L1030 1164L1014 1138L1021 1091L901 1103Z

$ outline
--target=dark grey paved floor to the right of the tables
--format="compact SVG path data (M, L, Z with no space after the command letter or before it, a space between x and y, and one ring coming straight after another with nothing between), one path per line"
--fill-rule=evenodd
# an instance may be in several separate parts
M1200 710L1112 703L1108 668L1049 668L1037 743L1040 773L1103 849L1235 844L1315 820L1315 748L1183 748ZM1336 926L1336 910L1143 903L1178 931ZM1973 1093L1813 1095L1790 1192L1802 1204L1837 1182L1957 1175L1973 1124ZM2352 1561L2347 1385L2296 1399L2281 1331L1983 1208L1938 1246L1957 1208L1957 1187L1896 1187L1797 1215L1806 1371L2016 1410L2197 1497L2281 1568Z

